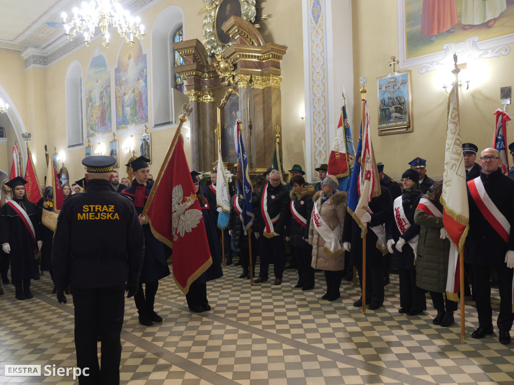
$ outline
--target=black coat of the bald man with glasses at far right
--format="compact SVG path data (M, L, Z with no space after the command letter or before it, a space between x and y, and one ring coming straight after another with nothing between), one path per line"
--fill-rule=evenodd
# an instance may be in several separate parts
M489 174L480 172L485 191L510 224L509 242L494 230L476 206L468 187L469 233L466 238L467 261L482 266L505 264L505 254L514 250L514 181L500 169ZM471 182L470 182L471 183Z

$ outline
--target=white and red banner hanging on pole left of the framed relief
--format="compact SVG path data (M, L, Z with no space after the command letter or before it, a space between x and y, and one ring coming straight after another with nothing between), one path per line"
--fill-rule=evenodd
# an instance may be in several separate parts
M354 219L362 228L362 232L365 233L366 225L360 222L360 217L368 210L371 199L380 195L380 179L378 178L375 153L371 143L370 111L368 103L364 99L362 99L362 103L364 103L365 119L362 122L362 157L358 184L360 198L354 211Z

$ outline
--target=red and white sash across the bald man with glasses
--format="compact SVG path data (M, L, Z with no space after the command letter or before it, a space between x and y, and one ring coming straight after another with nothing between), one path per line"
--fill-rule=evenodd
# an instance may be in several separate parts
M482 215L502 237L505 243L509 243L510 223L487 195L482 179L476 177L470 180L468 182L468 188L473 201L475 201Z

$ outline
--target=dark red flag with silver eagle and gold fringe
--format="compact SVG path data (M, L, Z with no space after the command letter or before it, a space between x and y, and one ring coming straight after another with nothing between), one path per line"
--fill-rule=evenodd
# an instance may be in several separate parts
M212 258L179 133L178 129L143 214L148 216L154 236L173 247L173 278L187 294L190 284L212 264ZM191 253L192 247L194 253Z

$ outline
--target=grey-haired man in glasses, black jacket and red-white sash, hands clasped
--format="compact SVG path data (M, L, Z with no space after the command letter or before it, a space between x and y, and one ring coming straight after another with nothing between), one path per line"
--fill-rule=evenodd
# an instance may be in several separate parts
M269 182L259 195L259 208L256 211L257 223L255 237L260 238L261 271L255 283L268 280L270 258L273 259L275 281L282 284L285 266L284 231L289 220L289 190L282 183L282 176L277 170L269 174Z

